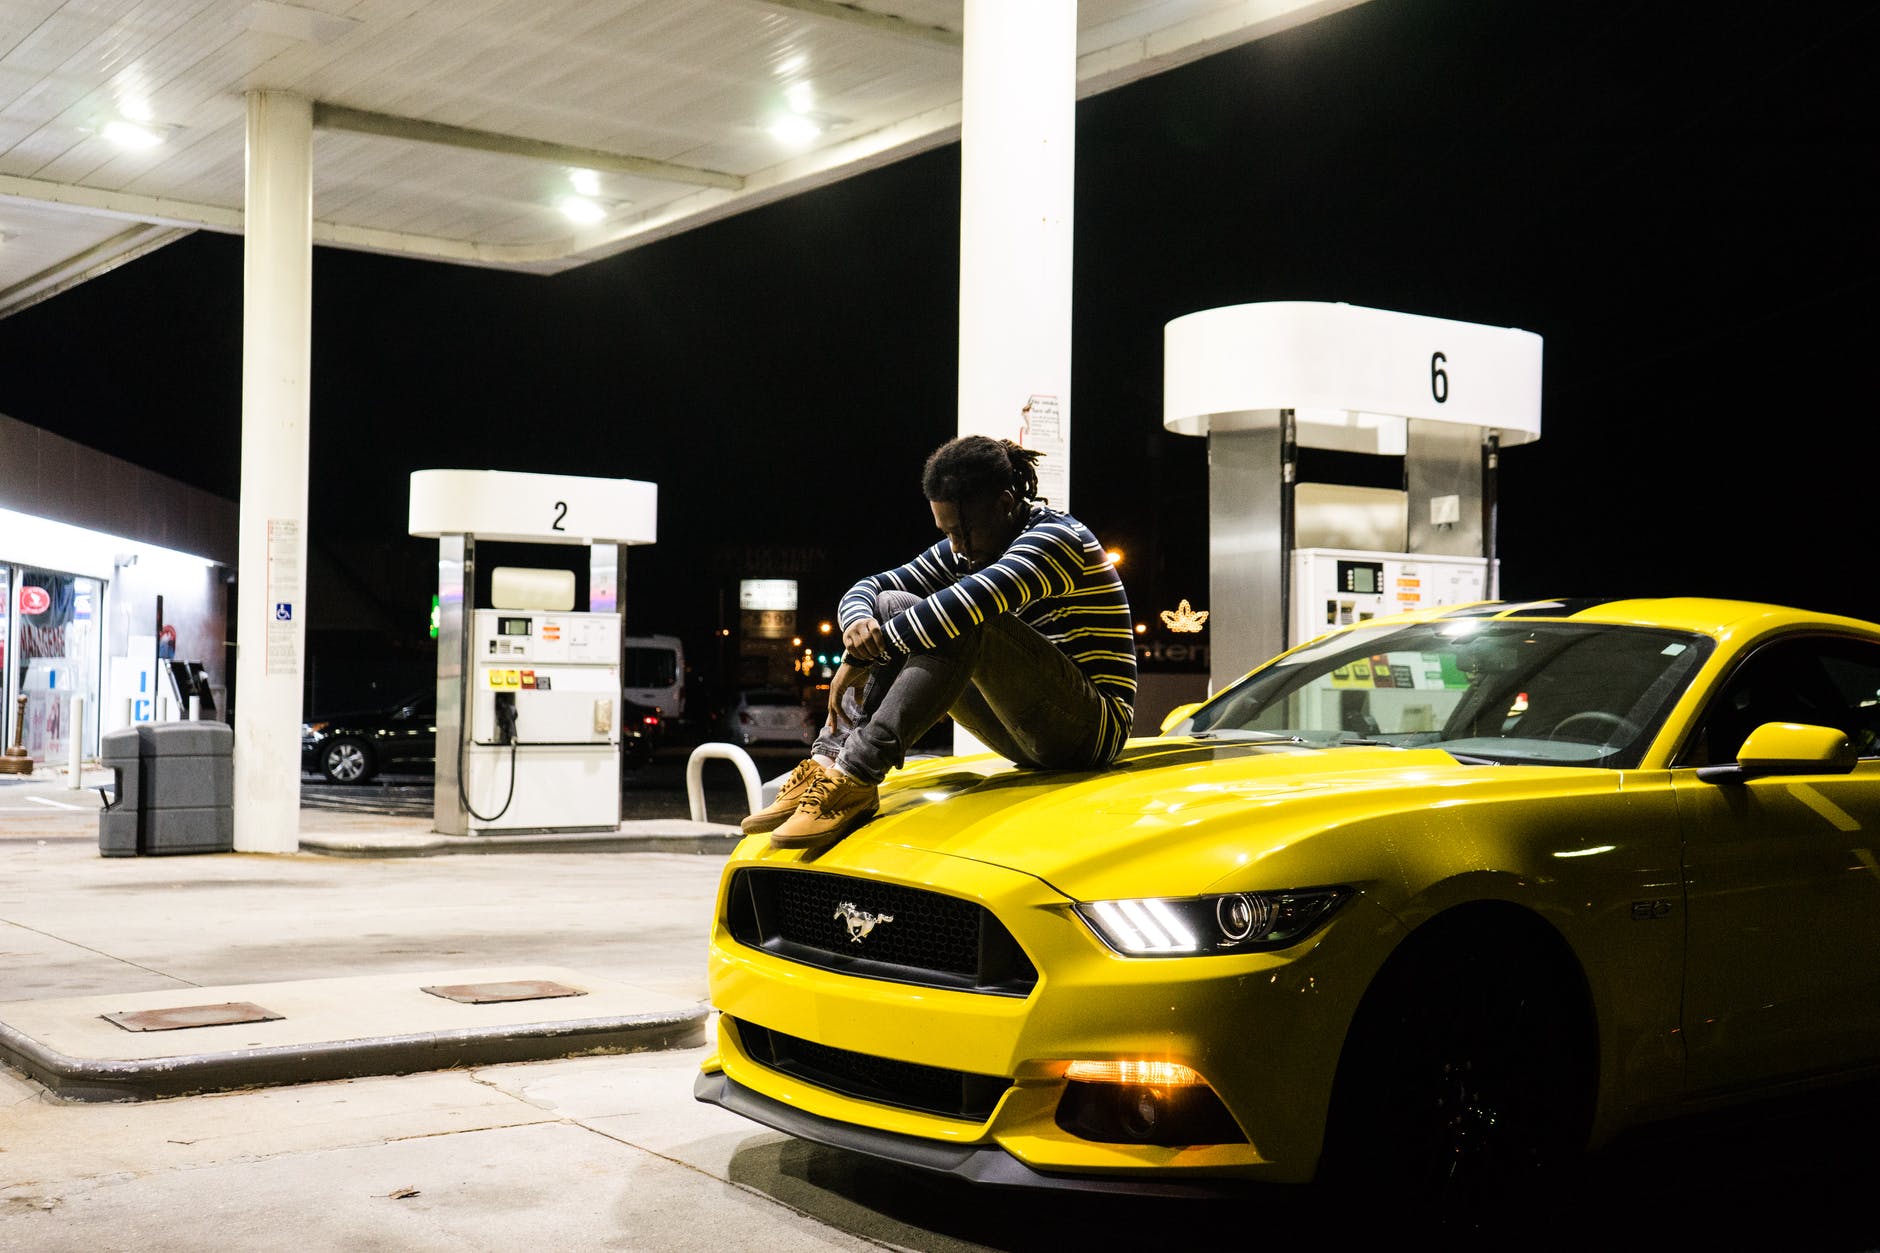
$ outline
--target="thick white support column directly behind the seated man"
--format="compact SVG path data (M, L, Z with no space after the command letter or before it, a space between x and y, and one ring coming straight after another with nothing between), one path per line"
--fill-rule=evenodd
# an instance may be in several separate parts
M959 128L959 433L1043 453L1070 508L1075 0L966 0ZM955 753L981 753L953 730Z

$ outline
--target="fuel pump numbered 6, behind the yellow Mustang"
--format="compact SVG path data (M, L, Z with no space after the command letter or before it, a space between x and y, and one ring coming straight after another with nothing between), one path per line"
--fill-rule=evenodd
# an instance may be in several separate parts
M1331 626L1496 598L1500 450L1540 438L1540 367L1532 331L1359 305L1171 320L1162 425L1207 438L1209 690Z

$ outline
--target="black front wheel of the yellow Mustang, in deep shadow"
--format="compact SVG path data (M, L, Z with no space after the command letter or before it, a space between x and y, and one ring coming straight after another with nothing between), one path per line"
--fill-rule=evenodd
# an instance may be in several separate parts
M1322 1182L1449 1227L1536 1204L1581 1165L1594 1040L1560 950L1429 924L1352 1023Z

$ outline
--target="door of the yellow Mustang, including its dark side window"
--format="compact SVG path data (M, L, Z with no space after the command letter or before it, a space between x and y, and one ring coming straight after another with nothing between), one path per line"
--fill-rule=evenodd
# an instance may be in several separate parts
M1848 732L1852 773L1703 781L1763 722ZM1752 653L1707 706L1673 786L1684 835L1683 1035L1692 1093L1880 1059L1880 645Z

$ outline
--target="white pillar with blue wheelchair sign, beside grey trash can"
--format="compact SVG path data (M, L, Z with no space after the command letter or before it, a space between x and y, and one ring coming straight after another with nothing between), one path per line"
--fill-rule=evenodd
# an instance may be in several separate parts
M243 222L235 849L301 847L314 107L248 92Z

